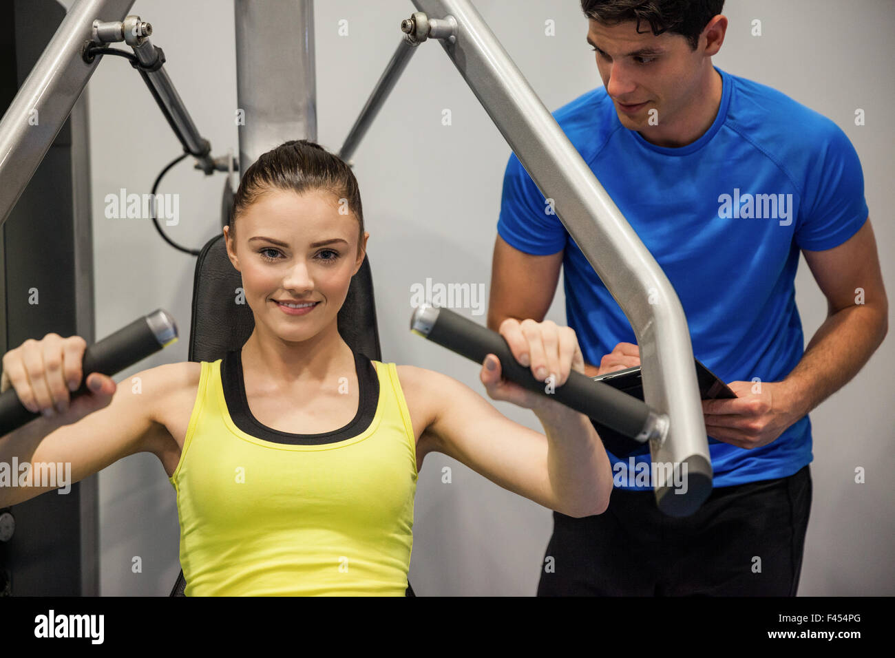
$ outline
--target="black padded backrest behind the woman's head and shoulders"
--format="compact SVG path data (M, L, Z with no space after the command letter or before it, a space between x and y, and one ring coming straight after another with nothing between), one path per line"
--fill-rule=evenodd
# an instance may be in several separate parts
M243 300L242 286L242 275L227 257L224 235L217 235L202 248L196 261L192 282L190 361L217 361L230 350L242 347L249 339L255 319L249 304L239 303ZM345 303L338 312L337 326L339 334L354 352L360 352L372 361L382 361L373 279L366 257L361 269L351 279ZM181 571L171 596L183 596L185 586ZM407 594L413 595L409 583Z

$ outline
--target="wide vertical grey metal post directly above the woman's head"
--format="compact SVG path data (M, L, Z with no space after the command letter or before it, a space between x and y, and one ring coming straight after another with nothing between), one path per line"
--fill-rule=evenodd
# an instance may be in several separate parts
M284 141L317 141L312 0L234 0L240 175Z

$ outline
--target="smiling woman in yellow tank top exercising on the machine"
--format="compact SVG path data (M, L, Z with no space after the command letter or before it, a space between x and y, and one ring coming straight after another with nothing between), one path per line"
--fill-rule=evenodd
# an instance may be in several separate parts
M502 381L494 355L488 394L533 409L546 437L439 372L371 362L345 343L337 313L369 234L339 158L309 141L265 153L224 235L255 318L242 349L140 372L134 388L93 373L93 393L68 406L85 341L25 341L4 355L0 389L45 417L0 439L0 459L71 462L78 482L155 454L177 491L187 595L405 594L432 450L568 516L606 509L609 459L590 421ZM584 372L572 329L507 320L500 333L539 380ZM0 507L51 489L0 489Z

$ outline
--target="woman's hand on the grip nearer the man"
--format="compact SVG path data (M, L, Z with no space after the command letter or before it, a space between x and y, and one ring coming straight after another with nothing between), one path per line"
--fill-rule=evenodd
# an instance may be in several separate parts
M531 367L534 378L544 382L545 390L558 389L573 370L584 373L584 355L578 346L575 329L559 327L552 320L520 322L507 318L500 323L499 333L506 338L516 361L526 368ZM562 406L550 397L501 379L500 361L493 354L485 357L480 377L491 399L505 400L534 411ZM548 381L550 377L552 380Z

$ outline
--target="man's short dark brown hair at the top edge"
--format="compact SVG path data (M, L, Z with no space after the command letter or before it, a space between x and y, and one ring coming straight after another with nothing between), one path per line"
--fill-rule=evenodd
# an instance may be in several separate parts
M638 32L644 21L657 37L662 32L686 37L691 50L699 46L699 35L723 8L724 0L581 0L581 11L589 19L606 25L636 21Z

